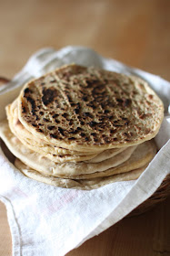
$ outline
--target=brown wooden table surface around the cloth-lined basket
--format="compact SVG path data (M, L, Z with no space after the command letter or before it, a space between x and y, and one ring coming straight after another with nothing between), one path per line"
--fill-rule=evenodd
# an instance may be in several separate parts
M0 0L0 74L12 78L35 50L83 45L170 80L169 0ZM123 219L69 256L170 255L170 199ZM0 255L11 255L0 203Z

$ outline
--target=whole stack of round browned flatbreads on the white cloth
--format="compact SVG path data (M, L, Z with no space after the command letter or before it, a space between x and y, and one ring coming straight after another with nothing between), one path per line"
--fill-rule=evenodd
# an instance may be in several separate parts
M25 176L93 189L141 175L164 106L144 80L71 64L25 84L6 114L0 135Z

